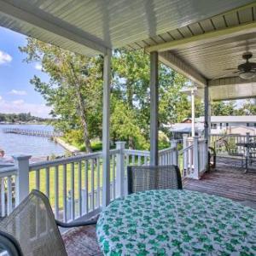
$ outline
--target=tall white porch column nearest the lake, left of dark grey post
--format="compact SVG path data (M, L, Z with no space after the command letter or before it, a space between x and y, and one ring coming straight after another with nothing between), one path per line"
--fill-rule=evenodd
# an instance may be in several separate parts
M102 158L103 184L102 206L110 202L110 154L109 154L109 119L110 119L110 83L111 83L111 49L104 55L103 68L103 124L102 124Z

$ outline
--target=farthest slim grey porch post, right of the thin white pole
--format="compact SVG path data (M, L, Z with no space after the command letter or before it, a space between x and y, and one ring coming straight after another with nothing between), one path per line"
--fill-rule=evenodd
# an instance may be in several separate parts
M211 129L211 114L209 114L211 111L210 104L209 104L209 87L208 83L205 86L205 140L206 140L206 168L208 166L208 147L209 147L209 141L210 141L210 129Z

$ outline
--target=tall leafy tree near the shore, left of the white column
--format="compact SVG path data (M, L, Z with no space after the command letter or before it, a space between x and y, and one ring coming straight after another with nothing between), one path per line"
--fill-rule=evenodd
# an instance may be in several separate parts
M39 61L49 81L37 76L31 80L35 90L52 107L62 131L82 129L86 151L91 151L90 138L99 130L102 108L102 57L87 58L37 39L28 38L26 61Z

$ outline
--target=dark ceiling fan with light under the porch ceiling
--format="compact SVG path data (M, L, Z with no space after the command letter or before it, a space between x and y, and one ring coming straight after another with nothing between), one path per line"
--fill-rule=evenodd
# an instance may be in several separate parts
M235 70L233 73L238 73L241 79L253 79L256 76L256 63L250 62L249 59L253 57L251 52L246 52L242 55L242 58L246 60L245 63L238 65L236 68L227 68L224 70ZM221 78L223 78L222 76ZM220 78L216 78L220 79Z

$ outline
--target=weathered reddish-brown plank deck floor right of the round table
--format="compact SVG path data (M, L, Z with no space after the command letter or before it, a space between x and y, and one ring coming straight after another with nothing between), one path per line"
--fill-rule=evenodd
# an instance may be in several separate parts
M256 202L256 170L244 173L236 161L221 160L215 171L205 173L200 180L186 179L183 188L234 201Z

